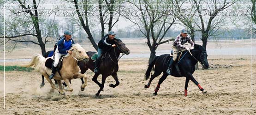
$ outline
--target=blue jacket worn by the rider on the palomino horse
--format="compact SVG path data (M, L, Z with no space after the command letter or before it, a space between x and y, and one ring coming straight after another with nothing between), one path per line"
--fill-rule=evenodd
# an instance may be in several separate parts
M61 38L58 42L58 50L60 54L67 54L67 51L71 49L72 44L75 44L74 40L71 38L70 40L66 41L65 38Z

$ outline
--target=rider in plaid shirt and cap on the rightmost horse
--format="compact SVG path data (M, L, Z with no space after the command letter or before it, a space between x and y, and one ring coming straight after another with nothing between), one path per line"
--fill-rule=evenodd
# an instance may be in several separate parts
M191 44L191 48L184 46L186 42ZM173 65L176 63L176 59L178 57L178 52L180 50L186 49L191 50L194 49L194 42L192 39L187 35L187 31L185 29L181 30L181 33L177 36L177 38L173 41L173 60L170 60L170 64L167 69L167 73L171 75Z

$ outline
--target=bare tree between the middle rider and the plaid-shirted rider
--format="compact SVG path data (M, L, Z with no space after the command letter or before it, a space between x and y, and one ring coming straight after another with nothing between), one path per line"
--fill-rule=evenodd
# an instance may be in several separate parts
M158 2L163 2L160 0ZM170 27L173 26L176 21L174 16L165 16L167 12L159 12L161 9L174 8L173 5L152 5L149 4L149 0L139 0L139 4L135 1L128 1L134 6L134 11L137 10L141 13L140 16L126 16L143 34L143 37L147 38L147 46L150 49L149 63L155 58L156 49L159 45L167 43L173 38L164 40L164 37ZM167 15L167 14L166 14Z

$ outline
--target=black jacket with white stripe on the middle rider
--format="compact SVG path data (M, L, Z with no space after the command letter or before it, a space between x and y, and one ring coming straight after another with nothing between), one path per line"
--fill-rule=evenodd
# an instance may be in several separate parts
M114 40L115 40L115 38L114 39L109 39L108 34L107 34L103 38L101 38L101 40L98 43L98 46L103 51L107 51L107 50L111 49L113 44L115 44Z

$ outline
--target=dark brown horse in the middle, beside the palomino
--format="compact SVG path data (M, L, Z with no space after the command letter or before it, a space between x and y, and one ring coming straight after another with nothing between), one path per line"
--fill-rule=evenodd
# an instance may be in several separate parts
M96 93L96 96L99 96L100 92L103 91L105 80L108 76L112 76L114 80L116 81L116 84L109 84L109 87L115 88L119 85L118 77L117 77L117 71L118 71L118 61L119 59L124 55L129 55L130 50L125 46L125 44L122 41L115 40L116 47L112 47L107 53L104 58L104 60L100 63L100 71L99 73L95 73L94 77L92 78L92 81L94 81L96 84L99 85L100 89ZM96 52L86 52L89 56L89 61L79 62L79 67L81 69L81 73L84 74L88 69L91 71L94 71L94 60L91 59L92 55L94 55ZM123 53L121 56L120 53ZM101 83L97 81L97 78L99 75L102 75ZM83 83L83 81L82 81Z

